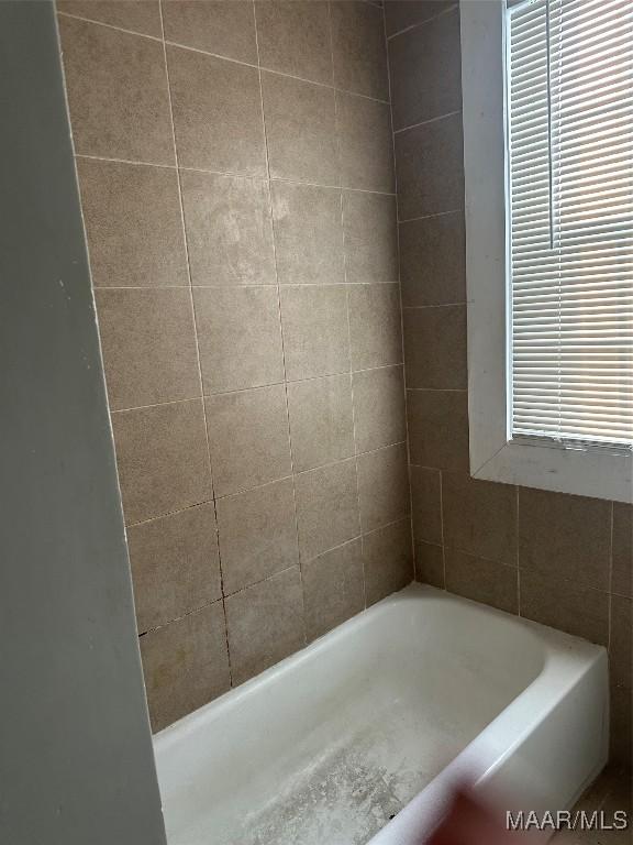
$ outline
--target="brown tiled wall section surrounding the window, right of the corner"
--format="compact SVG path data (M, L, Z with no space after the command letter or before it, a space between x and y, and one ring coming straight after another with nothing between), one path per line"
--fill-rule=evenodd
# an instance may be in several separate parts
M469 476L459 10L385 8L417 578L608 646L630 761L633 508Z

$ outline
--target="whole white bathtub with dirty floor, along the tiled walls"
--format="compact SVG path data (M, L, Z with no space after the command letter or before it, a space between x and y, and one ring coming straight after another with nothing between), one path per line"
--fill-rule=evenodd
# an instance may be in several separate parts
M169 845L413 845L455 780L565 809L607 747L603 648L419 584L155 736Z

